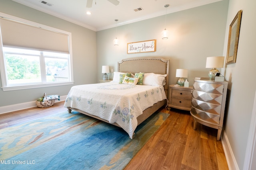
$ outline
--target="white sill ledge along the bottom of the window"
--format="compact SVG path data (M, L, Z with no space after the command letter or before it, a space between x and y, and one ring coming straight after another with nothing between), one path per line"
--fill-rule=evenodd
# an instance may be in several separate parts
M74 82L60 82L60 83L47 83L47 84L33 84L33 85L24 85L24 86L9 86L2 87L3 91L12 91L12 90L23 90L30 88L41 88L41 87L52 87L52 86L64 86L74 84Z

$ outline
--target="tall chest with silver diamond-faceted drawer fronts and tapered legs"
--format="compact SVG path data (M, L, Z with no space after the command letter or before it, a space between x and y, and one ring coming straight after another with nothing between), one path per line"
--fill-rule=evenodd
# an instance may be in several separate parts
M191 116L196 123L218 129L217 141L223 127L228 82L194 79Z

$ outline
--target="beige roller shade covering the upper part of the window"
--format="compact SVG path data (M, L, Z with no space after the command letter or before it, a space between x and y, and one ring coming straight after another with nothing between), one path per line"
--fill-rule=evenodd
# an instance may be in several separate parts
M69 53L68 35L0 18L3 45Z

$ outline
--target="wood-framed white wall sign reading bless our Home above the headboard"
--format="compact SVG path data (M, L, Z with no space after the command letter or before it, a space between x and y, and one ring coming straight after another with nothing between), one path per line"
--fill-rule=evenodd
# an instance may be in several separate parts
M127 43L127 54L156 51L156 40Z

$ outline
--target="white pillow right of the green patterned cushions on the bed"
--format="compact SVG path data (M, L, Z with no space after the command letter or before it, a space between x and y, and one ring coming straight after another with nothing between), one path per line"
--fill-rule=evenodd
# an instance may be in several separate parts
M145 73L143 79L143 85L148 86L164 86L166 84L167 74L154 74L154 73Z

